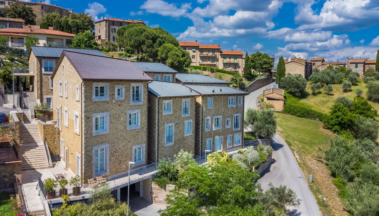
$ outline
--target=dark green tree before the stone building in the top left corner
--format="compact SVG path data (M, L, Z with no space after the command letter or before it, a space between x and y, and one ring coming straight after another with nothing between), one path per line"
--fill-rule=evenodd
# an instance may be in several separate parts
M26 25L36 25L36 15L32 7L24 4L13 3L5 9L5 16L9 18L19 18L25 20Z

